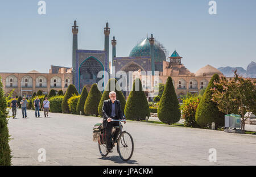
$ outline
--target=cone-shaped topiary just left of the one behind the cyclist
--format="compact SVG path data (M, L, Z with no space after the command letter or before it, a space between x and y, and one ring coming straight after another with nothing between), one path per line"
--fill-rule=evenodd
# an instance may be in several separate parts
M96 116L98 116L98 103L100 103L101 95L102 94L98 90L97 84L93 83L92 87L90 87L90 92L84 104L85 115L95 114Z

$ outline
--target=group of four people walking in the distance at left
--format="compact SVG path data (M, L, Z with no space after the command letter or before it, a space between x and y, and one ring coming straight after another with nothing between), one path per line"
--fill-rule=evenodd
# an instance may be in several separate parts
M27 118L27 104L28 102L26 100L26 97L23 96L23 99L20 101L20 107L22 109L22 118ZM11 111L13 112L13 119L18 119L16 118L17 108L18 108L18 101L14 96L13 100L11 101ZM40 117L39 109L41 109L41 102L40 102L40 99L38 99L38 96L36 96L36 99L34 100L34 108L35 108L35 117ZM43 101L42 108L44 110L44 117L48 117L50 103L47 97Z

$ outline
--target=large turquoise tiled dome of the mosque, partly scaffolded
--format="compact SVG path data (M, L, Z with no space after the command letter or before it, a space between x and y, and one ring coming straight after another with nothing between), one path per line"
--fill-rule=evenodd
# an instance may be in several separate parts
M155 49L155 62L166 61L166 54L164 51L156 44L154 44ZM130 57L141 57L150 56L150 41L146 37L138 45L136 45L130 52Z

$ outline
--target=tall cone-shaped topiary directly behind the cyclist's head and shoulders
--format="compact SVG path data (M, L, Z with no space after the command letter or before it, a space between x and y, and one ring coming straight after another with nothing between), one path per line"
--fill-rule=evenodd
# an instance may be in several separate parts
M112 90L110 88L110 86L111 86L110 83L111 82L113 82L113 84L115 86L114 89L112 89ZM106 88L108 88L108 89L106 89ZM103 103L104 103L104 100L108 100L109 99L109 92L110 91L115 91L117 93L117 100L120 101L122 112L125 111L125 104L126 104L125 96L123 96L123 93L120 90L120 87L119 87L119 85L117 83L117 79L111 78L111 79L109 79L109 82L107 83L107 85L106 85L106 87L104 89L104 92L103 92L103 94L101 96L100 104L98 104L98 114L100 116L103 116L102 115Z

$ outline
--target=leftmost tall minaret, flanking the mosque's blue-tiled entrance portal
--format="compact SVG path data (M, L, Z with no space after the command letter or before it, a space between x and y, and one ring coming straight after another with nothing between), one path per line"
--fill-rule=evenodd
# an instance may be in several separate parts
M72 81L73 85L75 85L75 73L76 73L76 50L77 50L77 33L78 33L78 26L76 26L76 20L74 21L74 26L72 26L72 33L73 33L73 49L72 49Z

